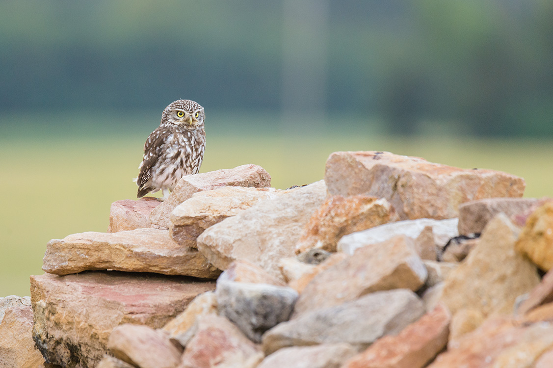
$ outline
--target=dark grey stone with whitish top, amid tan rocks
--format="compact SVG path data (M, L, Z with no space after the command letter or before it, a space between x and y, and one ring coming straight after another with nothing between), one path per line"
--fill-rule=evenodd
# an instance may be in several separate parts
M261 342L265 331L290 318L298 299L298 292L289 287L233 281L218 281L215 293L219 313L255 343Z

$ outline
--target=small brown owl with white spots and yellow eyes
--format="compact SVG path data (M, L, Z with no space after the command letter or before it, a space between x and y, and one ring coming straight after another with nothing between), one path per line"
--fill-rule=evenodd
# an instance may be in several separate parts
M206 146L204 119L204 108L194 101L177 100L165 107L159 127L144 144L138 198L161 190L164 200L180 178L200 171Z

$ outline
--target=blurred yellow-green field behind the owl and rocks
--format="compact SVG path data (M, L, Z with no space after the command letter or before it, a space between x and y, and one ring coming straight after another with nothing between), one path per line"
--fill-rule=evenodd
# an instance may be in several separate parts
M149 128L148 128L149 129ZM29 275L42 273L50 239L106 231L109 205L135 197L132 178L148 133L7 134L0 137L0 297L29 294ZM239 136L210 134L201 172L261 165L276 188L324 177L334 151L378 150L419 156L463 168L503 170L526 179L527 197L551 196L553 144L518 139L398 138L368 132L281 134L278 129Z

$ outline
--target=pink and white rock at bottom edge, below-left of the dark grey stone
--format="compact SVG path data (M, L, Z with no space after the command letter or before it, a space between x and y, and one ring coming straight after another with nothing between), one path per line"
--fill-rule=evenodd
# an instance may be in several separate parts
M248 340L226 318L208 314L197 322L197 332L186 345L179 368L254 368L263 359L258 345Z

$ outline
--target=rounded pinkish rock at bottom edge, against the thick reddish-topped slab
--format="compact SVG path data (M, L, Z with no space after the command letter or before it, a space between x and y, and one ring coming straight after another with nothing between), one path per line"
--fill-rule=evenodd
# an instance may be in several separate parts
M140 368L175 368L182 354L165 331L134 324L114 328L107 346L115 357Z

